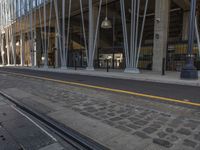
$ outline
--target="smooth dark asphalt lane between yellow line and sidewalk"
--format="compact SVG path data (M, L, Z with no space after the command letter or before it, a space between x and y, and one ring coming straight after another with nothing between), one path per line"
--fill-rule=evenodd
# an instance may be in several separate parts
M30 69L0 68L0 71L21 73L39 77L48 77L56 80L78 82L113 89L127 90L141 94L148 94L178 99L182 101L200 103L200 87L194 86L183 86L176 84L153 83L148 81L136 81L77 74L35 71Z

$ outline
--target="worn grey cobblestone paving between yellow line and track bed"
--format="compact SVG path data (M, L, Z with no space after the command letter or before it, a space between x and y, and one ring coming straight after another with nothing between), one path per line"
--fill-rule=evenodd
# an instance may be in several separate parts
M17 88L48 100L53 106L71 109L129 135L149 139L161 146L159 150L200 150L199 108L6 74L0 75L0 85L0 89ZM35 109L45 111L40 107L43 105Z

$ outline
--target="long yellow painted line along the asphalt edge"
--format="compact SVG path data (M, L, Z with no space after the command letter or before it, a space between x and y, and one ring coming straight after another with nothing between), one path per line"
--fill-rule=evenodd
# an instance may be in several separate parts
M89 84L72 82L72 81L62 81L62 80L52 79L52 78L48 78L48 77L38 77L38 76L26 75L26 74L22 74L22 73L13 73L13 72L9 72L9 71L1 71L1 72L5 72L5 73L11 74L11 75L18 75L18 76L29 77L29 78L34 78L34 79L52 81L52 82L57 82L57 83L62 83L62 84L75 85L75 86L87 87L87 88L92 88L92 89L99 89L99 90L110 91L110 92L115 92L115 93L124 93L124 94L139 96L139 97L145 97L145 98L151 98L151 99L156 99L156 100L161 100L161 101L175 102L175 103L200 107L200 103L178 100L178 99L174 99L174 98L154 96L154 95L149 95L149 94L142 94L142 93L137 93L137 92L132 92L132 91L112 89L112 88L89 85Z

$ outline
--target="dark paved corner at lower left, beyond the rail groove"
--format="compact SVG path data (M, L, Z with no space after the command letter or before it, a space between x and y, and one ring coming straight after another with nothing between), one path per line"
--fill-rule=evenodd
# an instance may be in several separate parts
M0 96L1 150L64 150L43 128L7 102Z

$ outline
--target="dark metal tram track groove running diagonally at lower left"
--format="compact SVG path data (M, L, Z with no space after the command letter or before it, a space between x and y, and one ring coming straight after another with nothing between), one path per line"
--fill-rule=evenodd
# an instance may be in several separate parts
M79 132L64 126L63 124L47 117L41 113L34 111L32 108L20 103L13 97L7 95L3 91L0 91L0 95L7 99L10 103L14 104L16 108L22 110L26 114L30 115L34 119L42 123L50 131L54 132L63 141L70 144L77 150L109 150L105 146L97 143L96 141L80 134Z

